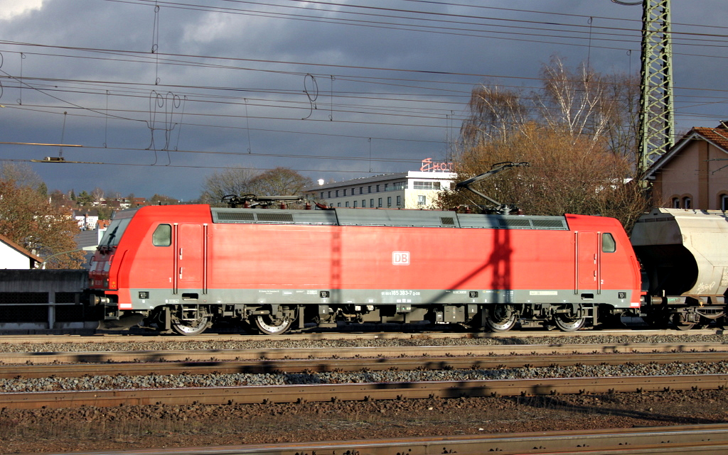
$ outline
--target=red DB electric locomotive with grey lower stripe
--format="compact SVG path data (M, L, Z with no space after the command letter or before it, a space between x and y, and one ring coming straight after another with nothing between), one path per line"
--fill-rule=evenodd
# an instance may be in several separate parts
M577 215L149 206L116 214L92 261L107 320L186 335L216 322L573 331L641 297L620 223Z

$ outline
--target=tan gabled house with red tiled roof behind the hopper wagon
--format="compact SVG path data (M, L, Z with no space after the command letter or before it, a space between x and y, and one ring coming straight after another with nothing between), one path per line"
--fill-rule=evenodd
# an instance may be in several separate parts
M655 206L728 209L728 121L691 129L650 166Z

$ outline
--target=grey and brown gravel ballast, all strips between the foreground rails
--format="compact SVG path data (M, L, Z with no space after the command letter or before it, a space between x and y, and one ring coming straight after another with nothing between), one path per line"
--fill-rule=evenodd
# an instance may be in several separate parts
M719 335L521 337L483 339L261 340L84 342L8 345L0 352L220 350L285 347L440 345L567 345L638 342L724 342ZM728 354L727 354L728 360ZM96 390L108 387L207 387L311 382L400 382L585 376L724 373L727 363L652 363L451 371L358 371L322 374L203 374L9 379L11 390ZM122 373L122 371L120 371ZM632 392L547 397L452 398L227 406L117 406L0 410L0 454L57 453L316 440L464 435L725 422L728 392Z

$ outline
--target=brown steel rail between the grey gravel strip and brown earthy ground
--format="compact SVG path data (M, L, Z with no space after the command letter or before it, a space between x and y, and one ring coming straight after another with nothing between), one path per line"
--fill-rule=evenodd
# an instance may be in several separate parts
M62 390L0 393L0 408L76 408L192 404L304 403L515 395L562 395L668 390L724 390L728 374L586 377L483 381L377 382L133 390Z

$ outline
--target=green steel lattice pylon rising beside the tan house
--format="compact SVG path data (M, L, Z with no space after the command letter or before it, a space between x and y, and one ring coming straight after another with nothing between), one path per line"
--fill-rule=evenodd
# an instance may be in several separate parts
M644 172L672 147L675 110L670 0L643 0L642 8L639 166Z

